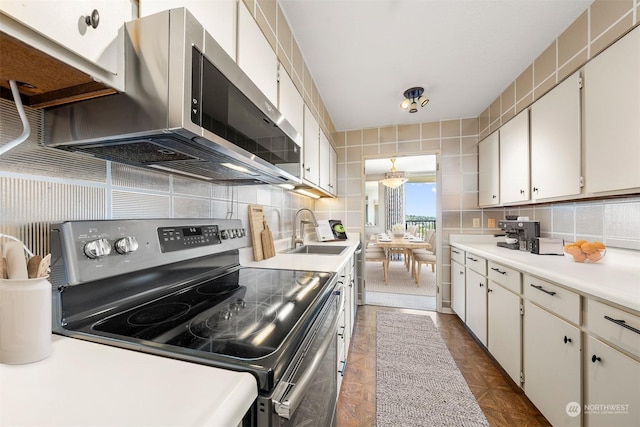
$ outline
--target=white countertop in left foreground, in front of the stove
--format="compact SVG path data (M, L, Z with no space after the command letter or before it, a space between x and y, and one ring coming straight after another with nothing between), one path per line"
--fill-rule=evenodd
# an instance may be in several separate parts
M0 364L2 426L236 426L248 373L53 335L47 359Z

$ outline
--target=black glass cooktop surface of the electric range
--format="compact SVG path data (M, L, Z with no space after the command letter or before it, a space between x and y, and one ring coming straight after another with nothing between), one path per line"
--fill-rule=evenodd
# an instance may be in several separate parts
M273 353L330 273L241 268L102 319L93 333L256 359Z

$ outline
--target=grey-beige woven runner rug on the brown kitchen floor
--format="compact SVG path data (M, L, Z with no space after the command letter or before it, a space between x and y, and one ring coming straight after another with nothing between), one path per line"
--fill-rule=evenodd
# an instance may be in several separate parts
M377 427L489 426L429 316L377 313Z

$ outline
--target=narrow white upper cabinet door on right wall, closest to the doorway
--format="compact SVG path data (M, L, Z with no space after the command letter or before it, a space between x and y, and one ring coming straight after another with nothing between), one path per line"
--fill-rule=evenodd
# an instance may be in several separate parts
M500 147L498 132L478 144L478 205L500 203Z

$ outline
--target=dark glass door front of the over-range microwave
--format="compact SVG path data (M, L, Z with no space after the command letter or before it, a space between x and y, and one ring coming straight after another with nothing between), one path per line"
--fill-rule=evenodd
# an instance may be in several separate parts
M192 72L192 98L200 108L192 110L191 121L300 177L300 147L195 47Z

